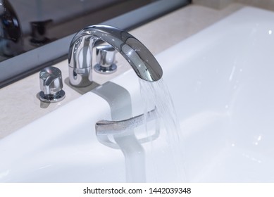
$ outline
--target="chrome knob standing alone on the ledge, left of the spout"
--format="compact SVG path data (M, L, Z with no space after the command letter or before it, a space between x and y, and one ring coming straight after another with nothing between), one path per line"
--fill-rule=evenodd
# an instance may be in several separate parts
M61 70L55 67L47 67L40 71L39 99L46 103L55 103L65 98L63 91Z

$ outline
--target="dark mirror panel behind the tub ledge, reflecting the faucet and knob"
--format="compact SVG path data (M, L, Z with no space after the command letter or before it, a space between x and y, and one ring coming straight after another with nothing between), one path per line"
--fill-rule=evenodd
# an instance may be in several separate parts
M0 0L0 61L156 0Z

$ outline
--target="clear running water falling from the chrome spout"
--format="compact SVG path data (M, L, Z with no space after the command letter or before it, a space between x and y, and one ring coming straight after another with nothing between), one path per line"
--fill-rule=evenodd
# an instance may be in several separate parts
M186 182L182 134L168 88L162 79L157 82L139 80L139 84L141 96L145 103L145 113L155 107L158 122L163 123L160 125L160 139L151 141L151 147L149 148L149 155L152 158L148 158L149 169L147 169L147 172L152 176L151 182L163 182L165 180ZM151 131L147 128L148 135L149 132ZM160 142L161 140L163 143ZM165 147L162 147L163 144ZM168 175L161 177L161 173Z

